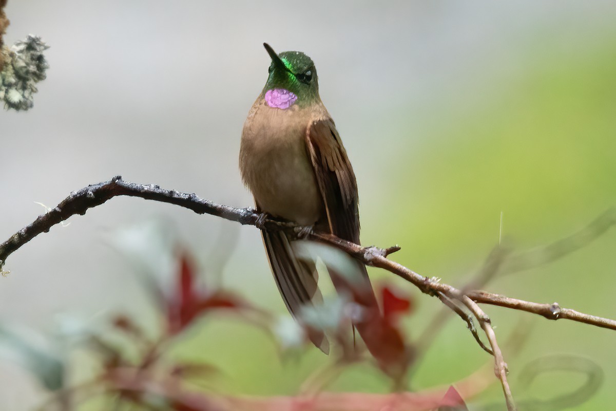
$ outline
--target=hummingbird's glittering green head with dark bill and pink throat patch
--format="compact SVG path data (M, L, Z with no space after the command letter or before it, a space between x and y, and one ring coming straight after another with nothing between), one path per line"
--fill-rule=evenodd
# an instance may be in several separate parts
M320 100L317 69L310 57L299 51L276 54L269 44L263 43L263 46L272 57L269 77L262 91L270 107L284 109L293 104L306 107Z

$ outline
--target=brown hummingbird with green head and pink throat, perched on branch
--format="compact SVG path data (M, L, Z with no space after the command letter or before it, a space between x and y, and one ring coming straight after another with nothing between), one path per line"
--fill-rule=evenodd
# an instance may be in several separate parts
M249 110L240 145L241 177L257 212L359 243L357 181L318 94L314 62L302 52L276 54L269 44L263 46L272 59L269 75ZM297 319L303 306L321 299L314 262L299 259L292 246L306 240L293 240L283 231L262 229L261 234L278 290ZM369 290L363 292L364 305L378 310L366 267L354 264ZM339 281L333 280L338 288ZM369 327L354 325L366 340ZM309 338L328 353L323 332Z

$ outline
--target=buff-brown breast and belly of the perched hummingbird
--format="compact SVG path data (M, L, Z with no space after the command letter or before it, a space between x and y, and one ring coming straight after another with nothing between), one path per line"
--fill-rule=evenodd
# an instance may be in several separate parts
M262 211L311 226L322 216L323 200L306 152L308 121L289 121L296 119L283 110L270 110L280 116L245 125L242 178Z

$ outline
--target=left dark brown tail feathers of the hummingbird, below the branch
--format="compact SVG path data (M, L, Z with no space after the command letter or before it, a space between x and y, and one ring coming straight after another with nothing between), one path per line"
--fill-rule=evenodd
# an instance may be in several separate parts
M262 230L261 234L280 295L291 315L297 317L302 306L312 304L313 298L322 298L317 287L318 275L315 265L296 258L289 238L284 232ZM330 343L325 333L312 332L309 338L318 349L329 354Z

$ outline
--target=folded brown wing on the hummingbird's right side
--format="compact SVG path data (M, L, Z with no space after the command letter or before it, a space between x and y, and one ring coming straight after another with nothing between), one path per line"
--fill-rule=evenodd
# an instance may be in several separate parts
M331 118L309 125L306 149L323 196L331 233L359 244L357 181Z

